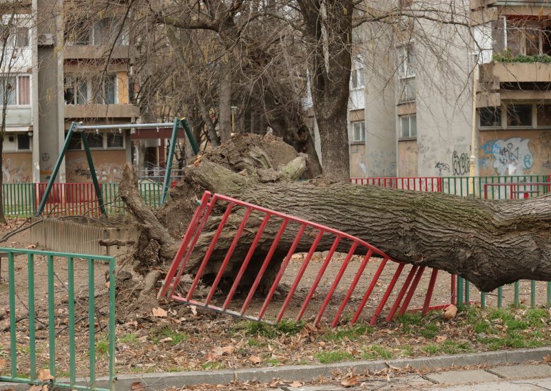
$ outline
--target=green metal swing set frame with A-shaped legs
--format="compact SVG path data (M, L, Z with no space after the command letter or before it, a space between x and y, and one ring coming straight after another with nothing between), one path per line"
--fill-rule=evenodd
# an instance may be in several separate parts
M90 145L88 145L88 138L86 135L87 131L100 131L105 129L118 129L118 131L123 131L123 129L149 129L149 128L156 128L156 129L172 129L171 139L170 139L170 147L168 151L168 158L167 158L167 169L165 171L165 178L163 180L163 188L159 200L159 205L163 205L167 199L168 195L168 189L169 189L169 181L170 181L170 175L172 170L172 160L174 158L174 149L176 145L176 138L178 138L178 130L180 129L180 125L185 130L185 134L189 140L189 144L191 145L191 149L193 149L194 154L199 153L199 147L195 141L195 138L193 134L191 134L191 129L189 129L189 124L187 123L186 118L174 118L174 122L171 123L141 123L141 124L114 124L114 125L83 125L82 123L71 123L69 127L69 131L67 131L67 136L65 136L65 142L63 142L63 147L61 147L61 151L59 152L59 156L56 160L56 164L54 165L54 169L52 170L52 176L50 176L50 179L48 180L48 185L46 186L46 189L44 191L44 194L41 198L41 202L39 204L39 208L37 209L37 216L41 215L44 211L44 207L46 205L46 202L48 202L48 198L50 197L50 192L52 191L52 187L54 186L54 182L56 180L57 174L59 173L59 167L61 167L61 162L63 162L63 158L65 158L65 153L67 152L67 148L69 147L70 140L73 136L73 134L81 134L81 141L82 145L84 147L84 151L86 154L86 160L88 162L88 167L90 168L90 178L92 178L92 183L94 184L94 191L96 192L96 198L98 200L99 209L101 211L101 214L105 215L107 217L107 211L105 210L105 204L103 201L103 195L101 193L101 187L98 182L98 177L96 176L96 169L94 167L94 160L92 159L92 154L90 152Z

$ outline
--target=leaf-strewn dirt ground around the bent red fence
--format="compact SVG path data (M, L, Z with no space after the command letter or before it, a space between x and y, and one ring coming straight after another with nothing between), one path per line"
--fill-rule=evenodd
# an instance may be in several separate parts
M9 247L32 248L28 231L25 231L10 240ZM287 270L284 273L280 284L280 292L271 301L266 319L274 319L280 310L289 287L293 284L298 273L303 254L295 254L291 259ZM309 264L301 280L298 289L289 304L285 318L295 319L302 304L305 301L309 288L318 275L324 257L318 254ZM315 315L322 308L322 303L329 292L335 276L342 266L344 255L335 255L326 273L320 281L318 290L312 297L303 320L312 321ZM254 326L249 322L220 315L201 308L183 306L175 302L157 302L154 295L149 297L136 297L134 290L138 277L132 271L132 265L123 268L119 273L117 286L116 305L116 372L158 372L173 370L213 370L219 368L242 368L254 366L277 366L293 363L309 363L320 360L320 354L335 350L344 350L351 357L366 358L364 352L366 346L384 346L391 352L393 358L405 355L428 355L420 346L430 342L424 337L416 337L410 341L404 336L397 335L393 330L399 327L396 322L387 323L384 319L378 319L375 327L370 332L360 333L357 339L342 338L331 340L327 335L333 335L334 331L326 328L337 312L344 295L350 286L350 282L357 273L362 262L362 257L353 257L351 264L344 272L340 284L333 294L328 308L324 311L324 317L320 327L307 324L304 328L300 326L298 332L283 332L273 337L262 337L262 326ZM360 305L363 294L371 277L380 265L381 260L373 258L362 273L360 282L353 291L353 295L346 306L340 319L342 328L338 330L349 330L346 323L351 319L354 311ZM377 281L371 298L368 300L360 317L360 326L366 330L368 321L373 316L375 308L380 304L384 291L391 282L397 264L389 262ZM68 354L68 291L67 291L67 261L65 258L54 260L55 282L54 301L56 319L56 372L58 377L67 376L69 370ZM397 291L404 285L410 266L404 268L400 275L396 288L388 299L382 316L386 317L391 306L395 302ZM18 372L23 374L29 370L29 347L28 347L28 260L25 255L16 257L16 318L17 323L17 359ZM48 345L48 271L47 260L41 256L34 259L35 277L35 308L37 319L37 366L48 367L49 345ZM96 373L98 375L108 373L107 355L107 322L108 322L108 284L106 284L105 272L108 265L96 262L94 265L94 296L96 297ZM410 302L409 308L423 306L430 273L426 271L419 282L415 295ZM87 376L89 368L89 333L88 333L88 281L89 274L87 264L82 260L75 260L74 266L74 290L75 290L75 319L76 319L76 368L77 376ZM183 284L184 292L189 287L189 282ZM208 293L205 287L199 287L194 298L204 299ZM545 304L545 283L537 283L537 304ZM439 273L435 284L435 291L431 305L449 304L450 297L450 275ZM503 306L512 303L513 288L507 286L503 289ZM225 296L215 297L211 304L221 306ZM230 308L239 310L244 302L245 294L240 293L231 301ZM479 293L473 287L470 290L470 299L477 305ZM487 306L495 306L497 296L495 293L486 294ZM247 314L256 316L264 302L264 295L255 295ZM521 302L530 303L530 284L521 284ZM7 314L8 303L8 262L3 259L0 268L0 373L8 370L10 365L10 331ZM153 308L163 308L166 315L154 316ZM441 317L428 315L428 317ZM258 337L255 337L256 328ZM329 334L328 334L329 333ZM442 327L441 333L446 338L470 340L473 338L472 330L456 330L453 325L448 324ZM419 339L420 338L420 339ZM474 340L476 338L474 337ZM474 341L473 340L473 341ZM474 343L474 342L473 342ZM416 348L415 346L418 347ZM413 348L404 349L404 346ZM413 353L412 353L413 352ZM349 356L346 356L350 358ZM386 357L380 352L375 352L371 358ZM387 357L388 358L388 357ZM37 369L39 369L37 368Z

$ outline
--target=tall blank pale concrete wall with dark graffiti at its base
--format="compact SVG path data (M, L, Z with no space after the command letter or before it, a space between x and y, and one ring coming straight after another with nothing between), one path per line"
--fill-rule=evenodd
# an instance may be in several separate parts
M461 1L457 1L457 12ZM419 20L417 59L417 147L419 176L467 176L472 138L473 59L468 28ZM399 127L398 127L399 129ZM402 158L402 157L401 157ZM411 159L406 159L411 160ZM399 176L404 176L399 171Z

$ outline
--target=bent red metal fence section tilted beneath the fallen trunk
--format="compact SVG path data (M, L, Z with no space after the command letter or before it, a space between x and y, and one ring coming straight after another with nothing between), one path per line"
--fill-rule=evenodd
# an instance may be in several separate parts
M224 210L223 213L220 210ZM240 222L233 220L227 224L232 213L234 218L240 216ZM211 226L208 236L210 244L206 251L203 250L204 254L194 254L200 237L205 235L207 220ZM252 220L260 222L260 226L254 225L251 234L249 231L253 224L249 223ZM279 228L275 235L267 237L269 235L265 233L269 222L276 223ZM212 255L221 251L222 246L217 244L222 232L230 232L233 240L224 247L225 255L218 257L218 263L214 266L216 276L211 275L210 279L203 281L205 271L213 268L213 264L209 264ZM232 262L240 265L239 270L229 271L229 262L236 254L236 247L240 245L244 232L251 234L251 244L247 251L242 252L246 254L242 262ZM283 244L282 237L286 234L287 237L290 234L294 240ZM314 258L322 239L325 243L330 239L332 244L322 260L317 262ZM262 252L264 260L260 265L253 265L251 259L260 245L267 250ZM270 280L269 289L260 293L262 277L269 271L271 264L280 261L274 254L282 254L282 246L283 254L286 255L279 268L276 264L277 273L273 282ZM295 254L299 248L309 250ZM202 257L202 261L195 275L191 279L184 279L192 256ZM242 282L248 268L256 270L256 277L244 287ZM369 313L368 319L374 324L381 317L390 321L396 313L402 315L408 309L425 271L423 266L396 262L371 244L328 226L205 191L158 296L256 321L277 323L284 315L291 314L297 321L311 319L314 324L326 319L333 327L345 318L354 323L369 309L373 311ZM430 306L437 274L437 270L431 271L428 285L425 284L424 298L419 302L422 304L419 310L427 312L449 305L447 302L441 306ZM221 289L224 277L230 277L230 281L225 289ZM276 295L282 282L287 284L286 291ZM451 302L454 301L454 285L455 279L452 279ZM385 310L386 316L383 315Z

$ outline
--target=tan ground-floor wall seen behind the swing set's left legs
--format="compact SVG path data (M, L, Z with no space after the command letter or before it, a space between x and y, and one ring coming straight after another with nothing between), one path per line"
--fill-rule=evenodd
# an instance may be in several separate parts
M90 169L84 151L67 151L67 182L90 182ZM92 160L96 168L99 182L119 182L123 166L127 160L127 151L116 149L112 151L92 151Z

